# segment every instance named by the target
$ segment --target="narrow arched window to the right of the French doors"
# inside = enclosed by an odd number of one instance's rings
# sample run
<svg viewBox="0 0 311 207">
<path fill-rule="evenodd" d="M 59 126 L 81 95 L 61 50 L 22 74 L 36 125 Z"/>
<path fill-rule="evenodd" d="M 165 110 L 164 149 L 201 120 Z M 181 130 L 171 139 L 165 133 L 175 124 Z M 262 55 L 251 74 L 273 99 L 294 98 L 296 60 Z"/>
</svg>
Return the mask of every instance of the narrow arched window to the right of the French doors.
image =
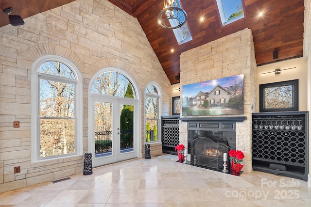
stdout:
<svg viewBox="0 0 311 207">
<path fill-rule="evenodd" d="M 146 143 L 159 142 L 160 93 L 156 83 L 145 89 L 145 129 Z"/>
</svg>

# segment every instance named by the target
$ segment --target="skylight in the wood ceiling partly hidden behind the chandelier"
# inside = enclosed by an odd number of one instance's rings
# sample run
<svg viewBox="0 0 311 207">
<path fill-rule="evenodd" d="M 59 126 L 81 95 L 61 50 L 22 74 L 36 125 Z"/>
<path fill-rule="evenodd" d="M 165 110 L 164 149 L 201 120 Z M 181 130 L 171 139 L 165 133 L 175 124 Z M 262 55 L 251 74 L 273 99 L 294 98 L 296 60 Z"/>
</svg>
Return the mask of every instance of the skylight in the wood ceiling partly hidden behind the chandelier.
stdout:
<svg viewBox="0 0 311 207">
<path fill-rule="evenodd" d="M 174 6 L 182 8 L 179 0 L 176 0 L 176 4 L 177 5 L 174 5 Z M 171 21 L 171 19 L 170 19 L 170 24 L 172 26 L 175 26 L 176 24 L 178 24 L 178 22 Z M 178 45 L 184 44 L 184 43 L 192 40 L 192 36 L 190 34 L 190 30 L 189 30 L 187 22 L 183 26 L 181 26 L 177 29 L 173 29 L 173 32 L 174 32 L 175 38 L 178 42 Z"/>
</svg>

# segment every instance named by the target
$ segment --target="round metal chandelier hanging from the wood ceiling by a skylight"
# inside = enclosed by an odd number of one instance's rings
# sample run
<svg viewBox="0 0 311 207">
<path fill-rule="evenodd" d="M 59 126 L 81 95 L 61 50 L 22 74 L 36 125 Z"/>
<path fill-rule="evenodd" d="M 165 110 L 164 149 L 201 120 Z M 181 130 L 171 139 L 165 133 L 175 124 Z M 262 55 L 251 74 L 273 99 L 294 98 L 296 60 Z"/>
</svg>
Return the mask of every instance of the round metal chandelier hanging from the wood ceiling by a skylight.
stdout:
<svg viewBox="0 0 311 207">
<path fill-rule="evenodd" d="M 163 10 L 157 16 L 157 21 L 161 27 L 165 29 L 176 29 L 185 24 L 187 14 L 181 8 L 179 1 L 164 0 Z"/>
</svg>

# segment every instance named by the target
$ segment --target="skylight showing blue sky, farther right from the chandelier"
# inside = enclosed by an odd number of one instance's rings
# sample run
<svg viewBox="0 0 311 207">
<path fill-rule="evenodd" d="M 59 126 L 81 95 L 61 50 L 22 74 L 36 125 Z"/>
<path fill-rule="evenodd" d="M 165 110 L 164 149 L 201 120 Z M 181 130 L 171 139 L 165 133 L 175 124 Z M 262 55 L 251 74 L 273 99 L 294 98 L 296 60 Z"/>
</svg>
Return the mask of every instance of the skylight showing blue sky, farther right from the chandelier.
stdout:
<svg viewBox="0 0 311 207">
<path fill-rule="evenodd" d="M 244 17 L 242 0 L 216 0 L 223 26 Z"/>
</svg>

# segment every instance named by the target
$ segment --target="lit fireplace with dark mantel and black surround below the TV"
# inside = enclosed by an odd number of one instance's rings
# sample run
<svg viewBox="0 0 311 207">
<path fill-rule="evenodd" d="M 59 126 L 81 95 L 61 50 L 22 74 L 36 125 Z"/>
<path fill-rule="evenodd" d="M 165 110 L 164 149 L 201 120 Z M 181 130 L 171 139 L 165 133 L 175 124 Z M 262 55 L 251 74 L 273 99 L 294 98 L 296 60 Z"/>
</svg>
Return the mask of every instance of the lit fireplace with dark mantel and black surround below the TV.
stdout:
<svg viewBox="0 0 311 207">
<path fill-rule="evenodd" d="M 236 123 L 246 117 L 184 117 L 188 128 L 189 163 L 215 171 L 222 171 L 224 153 L 236 149 Z"/>
</svg>

